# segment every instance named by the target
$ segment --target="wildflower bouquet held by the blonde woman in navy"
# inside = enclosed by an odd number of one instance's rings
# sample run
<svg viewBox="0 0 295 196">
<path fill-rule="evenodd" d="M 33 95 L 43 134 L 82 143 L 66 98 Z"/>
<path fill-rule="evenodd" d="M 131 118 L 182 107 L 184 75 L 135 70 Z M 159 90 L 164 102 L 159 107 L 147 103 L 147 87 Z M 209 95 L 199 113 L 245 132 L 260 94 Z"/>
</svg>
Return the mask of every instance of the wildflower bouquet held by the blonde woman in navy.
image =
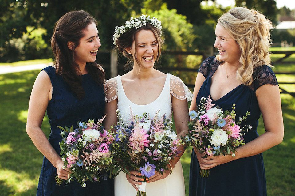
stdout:
<svg viewBox="0 0 295 196">
<path fill-rule="evenodd" d="M 223 112 L 218 107 L 213 107 L 210 96 L 202 97 L 198 111 L 189 113 L 189 133 L 182 137 L 188 146 L 194 146 L 203 153 L 202 158 L 208 156 L 231 155 L 235 156 L 236 148 L 244 145 L 243 134 L 251 126 L 240 127 L 239 124 L 247 118 L 250 112 L 235 122 L 235 104 L 232 111 Z M 208 177 L 209 170 L 201 169 L 202 177 Z"/>
</svg>

